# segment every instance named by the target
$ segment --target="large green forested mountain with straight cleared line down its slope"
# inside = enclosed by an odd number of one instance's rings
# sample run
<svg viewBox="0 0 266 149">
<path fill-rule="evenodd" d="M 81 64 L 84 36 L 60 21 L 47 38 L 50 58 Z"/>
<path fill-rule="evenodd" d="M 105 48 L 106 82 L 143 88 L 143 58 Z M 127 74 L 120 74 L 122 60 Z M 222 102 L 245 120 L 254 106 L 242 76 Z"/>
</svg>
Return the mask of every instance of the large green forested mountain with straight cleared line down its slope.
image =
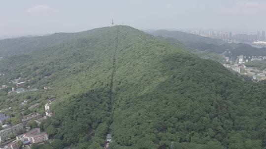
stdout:
<svg viewBox="0 0 266 149">
<path fill-rule="evenodd" d="M 1 83 L 57 98 L 42 125 L 57 143 L 33 149 L 102 149 L 107 133 L 111 149 L 266 147 L 266 84 L 130 26 L 82 34 L 0 60 Z"/>
</svg>

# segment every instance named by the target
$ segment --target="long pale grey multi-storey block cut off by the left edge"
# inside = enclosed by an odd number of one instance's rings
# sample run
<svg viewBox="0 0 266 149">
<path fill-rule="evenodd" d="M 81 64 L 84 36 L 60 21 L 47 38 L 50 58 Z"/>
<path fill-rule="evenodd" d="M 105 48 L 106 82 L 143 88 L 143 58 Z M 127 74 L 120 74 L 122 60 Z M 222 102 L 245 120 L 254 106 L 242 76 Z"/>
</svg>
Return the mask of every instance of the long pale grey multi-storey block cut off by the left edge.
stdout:
<svg viewBox="0 0 266 149">
<path fill-rule="evenodd" d="M 14 136 L 16 136 L 17 134 L 19 134 L 20 132 L 22 132 L 24 129 L 23 124 L 16 124 L 10 127 L 7 127 L 5 129 L 0 130 L 0 141 L 4 141 L 5 139 L 7 139 L 11 134 L 13 134 Z"/>
</svg>

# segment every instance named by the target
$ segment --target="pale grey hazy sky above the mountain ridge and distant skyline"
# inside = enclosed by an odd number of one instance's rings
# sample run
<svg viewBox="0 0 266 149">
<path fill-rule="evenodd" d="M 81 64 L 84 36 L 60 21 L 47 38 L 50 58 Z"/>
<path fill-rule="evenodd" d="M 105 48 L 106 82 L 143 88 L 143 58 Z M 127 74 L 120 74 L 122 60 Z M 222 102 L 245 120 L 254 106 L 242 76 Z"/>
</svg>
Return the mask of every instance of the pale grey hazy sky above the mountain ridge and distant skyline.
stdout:
<svg viewBox="0 0 266 149">
<path fill-rule="evenodd" d="M 0 0 L 0 36 L 138 29 L 266 30 L 266 0 Z"/>
</svg>

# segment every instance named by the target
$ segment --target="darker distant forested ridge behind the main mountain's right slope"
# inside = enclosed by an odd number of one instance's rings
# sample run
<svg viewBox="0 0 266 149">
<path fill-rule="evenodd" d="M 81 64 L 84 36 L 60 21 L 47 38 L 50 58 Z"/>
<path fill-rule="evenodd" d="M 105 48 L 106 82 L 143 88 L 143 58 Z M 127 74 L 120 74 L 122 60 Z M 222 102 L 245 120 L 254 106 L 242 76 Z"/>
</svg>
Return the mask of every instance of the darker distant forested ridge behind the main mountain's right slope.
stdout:
<svg viewBox="0 0 266 149">
<path fill-rule="evenodd" d="M 248 44 L 228 44 L 219 39 L 202 37 L 180 31 L 158 30 L 151 32 L 151 34 L 154 36 L 174 38 L 188 47 L 201 51 L 209 51 L 220 54 L 226 50 L 230 50 L 231 54 L 229 56 L 238 56 L 241 54 L 250 56 L 266 56 L 266 48 L 256 48 Z"/>
</svg>

